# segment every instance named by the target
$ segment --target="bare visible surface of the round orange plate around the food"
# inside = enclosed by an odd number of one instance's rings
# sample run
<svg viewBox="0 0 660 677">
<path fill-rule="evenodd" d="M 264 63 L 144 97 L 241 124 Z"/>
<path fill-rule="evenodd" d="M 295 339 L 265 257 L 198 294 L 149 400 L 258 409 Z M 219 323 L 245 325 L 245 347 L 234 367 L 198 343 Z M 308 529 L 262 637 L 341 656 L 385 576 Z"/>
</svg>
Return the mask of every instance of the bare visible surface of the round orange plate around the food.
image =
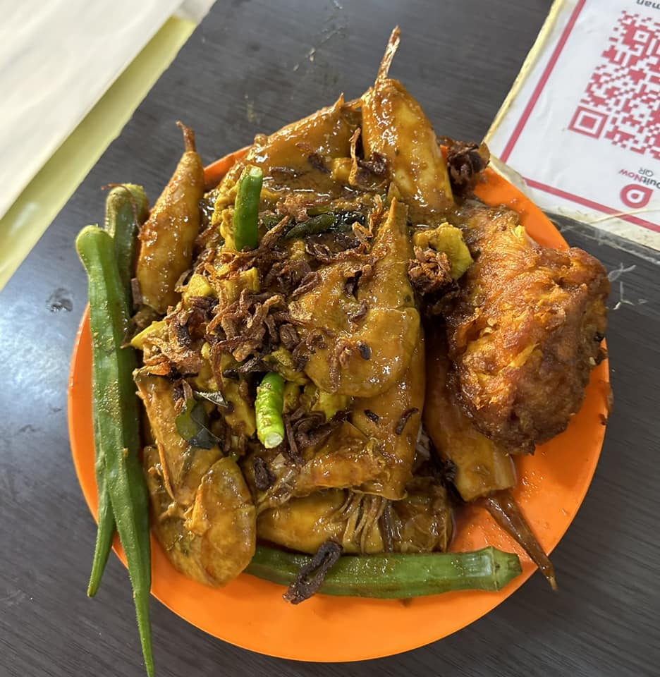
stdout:
<svg viewBox="0 0 660 677">
<path fill-rule="evenodd" d="M 207 182 L 219 181 L 242 152 L 207 168 Z M 487 170 L 479 197 L 489 205 L 506 204 L 520 214 L 539 243 L 566 248 L 566 242 L 541 212 L 510 183 Z M 75 342 L 68 391 L 68 420 L 73 461 L 92 514 L 98 508 L 94 478 L 91 393 L 92 350 L 87 312 Z M 568 430 L 518 459 L 515 498 L 539 541 L 551 551 L 575 517 L 592 480 L 605 427 L 609 371 L 606 362 L 592 373 L 587 399 Z M 501 592 L 450 592 L 397 600 L 329 597 L 319 594 L 299 606 L 282 599 L 283 587 L 242 574 L 224 588 L 205 587 L 178 573 L 152 539 L 152 592 L 176 614 L 221 640 L 245 649 L 304 661 L 356 661 L 421 647 L 464 628 L 503 602 L 530 578 L 536 566 L 482 509 L 461 519 L 455 551 L 495 547 L 517 551 L 523 574 Z M 90 558 L 92 555 L 90 544 Z M 121 546 L 116 554 L 126 563 Z M 561 585 L 561 571 L 558 572 Z"/>
</svg>

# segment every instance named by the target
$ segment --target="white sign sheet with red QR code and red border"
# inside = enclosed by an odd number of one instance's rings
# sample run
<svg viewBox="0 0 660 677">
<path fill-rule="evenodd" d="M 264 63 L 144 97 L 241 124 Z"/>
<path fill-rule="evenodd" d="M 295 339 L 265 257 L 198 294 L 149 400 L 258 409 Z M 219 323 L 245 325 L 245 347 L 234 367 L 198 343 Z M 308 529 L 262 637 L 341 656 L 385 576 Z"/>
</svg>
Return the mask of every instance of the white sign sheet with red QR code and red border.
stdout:
<svg viewBox="0 0 660 677">
<path fill-rule="evenodd" d="M 660 2 L 567 0 L 487 135 L 543 209 L 660 249 Z"/>
</svg>

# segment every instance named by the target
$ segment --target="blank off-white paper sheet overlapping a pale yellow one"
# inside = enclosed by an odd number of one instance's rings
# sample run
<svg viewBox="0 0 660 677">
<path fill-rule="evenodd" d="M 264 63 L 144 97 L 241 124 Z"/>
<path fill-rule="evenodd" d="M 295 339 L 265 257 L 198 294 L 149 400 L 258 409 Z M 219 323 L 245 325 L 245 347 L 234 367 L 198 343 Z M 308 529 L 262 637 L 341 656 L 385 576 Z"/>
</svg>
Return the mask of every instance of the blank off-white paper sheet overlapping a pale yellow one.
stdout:
<svg viewBox="0 0 660 677">
<path fill-rule="evenodd" d="M 0 2 L 0 217 L 180 4 Z"/>
</svg>

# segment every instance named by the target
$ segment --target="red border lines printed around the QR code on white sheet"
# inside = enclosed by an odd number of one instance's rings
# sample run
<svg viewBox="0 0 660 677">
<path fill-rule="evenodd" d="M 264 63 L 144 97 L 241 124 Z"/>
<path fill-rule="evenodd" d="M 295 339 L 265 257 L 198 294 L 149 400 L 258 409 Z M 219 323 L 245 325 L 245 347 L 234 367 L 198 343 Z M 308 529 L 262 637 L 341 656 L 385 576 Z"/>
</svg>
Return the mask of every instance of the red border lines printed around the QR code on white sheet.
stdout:
<svg viewBox="0 0 660 677">
<path fill-rule="evenodd" d="M 534 87 L 532 97 L 530 97 L 530 101 L 527 103 L 527 106 L 525 106 L 523 115 L 520 116 L 520 120 L 518 121 L 518 124 L 514 128 L 513 133 L 511 134 L 511 138 L 509 138 L 506 146 L 504 147 L 504 150 L 501 155 L 501 160 L 503 162 L 506 162 L 509 159 L 509 157 L 511 157 L 513 147 L 518 142 L 520 134 L 523 132 L 523 128 L 527 124 L 527 121 L 530 119 L 532 110 L 534 109 L 534 106 L 536 106 L 539 97 L 541 96 L 541 92 L 544 90 L 544 87 L 548 83 L 548 80 L 555 67 L 555 64 L 559 59 L 559 55 L 561 54 L 563 48 L 566 46 L 568 37 L 570 36 L 570 33 L 573 31 L 573 28 L 575 28 L 575 23 L 578 21 L 578 17 L 580 16 L 582 9 L 585 7 L 586 1 L 587 0 L 580 0 L 578 4 L 575 6 L 573 13 L 570 15 L 570 19 L 566 24 L 566 28 L 564 28 L 563 32 L 561 33 L 559 42 L 557 42 L 556 47 L 552 52 L 552 55 L 550 56 L 550 61 L 548 61 L 546 67 L 544 68 L 544 71 L 541 75 L 541 78 L 539 79 L 539 82 L 537 83 L 537 86 Z M 589 207 L 589 209 L 595 209 L 597 212 L 603 212 L 603 214 L 617 214 L 619 219 L 623 219 L 631 224 L 635 224 L 635 226 L 642 226 L 643 228 L 648 228 L 651 231 L 660 233 L 660 226 L 658 224 L 654 224 L 651 221 L 645 221 L 644 219 L 638 219 L 637 216 L 631 216 L 628 214 L 620 215 L 621 212 L 620 209 L 606 207 L 606 205 L 601 205 L 599 202 L 587 200 L 586 197 L 581 197 L 580 195 L 575 195 L 574 193 L 568 193 L 566 190 L 560 190 L 559 188 L 554 188 L 551 185 L 546 185 L 545 183 L 540 183 L 539 181 L 533 181 L 530 178 L 525 178 L 525 181 L 527 185 L 529 185 L 531 188 L 543 190 L 545 193 L 550 193 L 550 195 L 556 195 L 556 197 L 563 197 L 564 200 L 573 200 L 573 202 L 576 202 L 578 205 L 582 205 L 583 207 Z"/>
</svg>

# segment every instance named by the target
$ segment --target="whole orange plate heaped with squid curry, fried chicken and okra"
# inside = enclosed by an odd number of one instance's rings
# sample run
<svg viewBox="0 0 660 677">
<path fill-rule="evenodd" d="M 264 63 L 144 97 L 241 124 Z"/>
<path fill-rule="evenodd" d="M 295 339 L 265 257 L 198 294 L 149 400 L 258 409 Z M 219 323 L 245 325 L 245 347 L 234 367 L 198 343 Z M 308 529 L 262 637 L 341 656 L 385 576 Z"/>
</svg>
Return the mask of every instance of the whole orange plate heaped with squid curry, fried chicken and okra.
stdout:
<svg viewBox="0 0 660 677">
<path fill-rule="evenodd" d="M 179 123 L 153 207 L 116 185 L 76 240 L 88 592 L 114 547 L 149 674 L 150 592 L 240 647 L 352 661 L 561 581 L 609 410 L 606 270 L 485 145 L 436 136 L 398 42 L 359 99 L 205 169 Z"/>
</svg>

